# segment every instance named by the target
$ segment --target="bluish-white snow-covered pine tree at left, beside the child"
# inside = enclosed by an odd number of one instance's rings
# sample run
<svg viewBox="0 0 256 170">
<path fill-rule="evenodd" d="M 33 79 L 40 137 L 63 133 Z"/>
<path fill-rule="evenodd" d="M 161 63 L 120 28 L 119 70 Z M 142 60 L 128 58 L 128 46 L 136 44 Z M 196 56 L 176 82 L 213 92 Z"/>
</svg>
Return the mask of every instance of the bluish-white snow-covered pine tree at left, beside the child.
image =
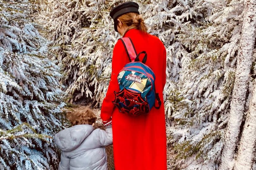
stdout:
<svg viewBox="0 0 256 170">
<path fill-rule="evenodd" d="M 36 2 L 34 2 L 36 3 Z M 47 57 L 35 4 L 0 2 L 0 169 L 56 169 L 62 129 L 59 67 Z"/>
</svg>

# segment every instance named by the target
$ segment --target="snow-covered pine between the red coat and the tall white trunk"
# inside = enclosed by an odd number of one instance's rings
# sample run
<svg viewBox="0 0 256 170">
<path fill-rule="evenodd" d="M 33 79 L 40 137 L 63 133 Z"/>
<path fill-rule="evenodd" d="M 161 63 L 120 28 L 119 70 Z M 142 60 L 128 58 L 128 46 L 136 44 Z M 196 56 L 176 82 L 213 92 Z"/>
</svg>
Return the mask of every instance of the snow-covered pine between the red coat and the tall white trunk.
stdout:
<svg viewBox="0 0 256 170">
<path fill-rule="evenodd" d="M 171 126 L 178 160 L 187 169 L 218 169 L 241 43 L 243 1 L 196 1 L 202 20 L 183 25 L 177 41 L 178 88 L 170 96 Z M 254 47 L 255 48 L 255 47 Z M 249 94 L 250 95 L 250 94 Z M 168 98 L 167 98 L 168 99 Z M 247 101 L 248 103 L 248 101 Z M 168 107 L 168 106 L 167 106 Z"/>
</svg>

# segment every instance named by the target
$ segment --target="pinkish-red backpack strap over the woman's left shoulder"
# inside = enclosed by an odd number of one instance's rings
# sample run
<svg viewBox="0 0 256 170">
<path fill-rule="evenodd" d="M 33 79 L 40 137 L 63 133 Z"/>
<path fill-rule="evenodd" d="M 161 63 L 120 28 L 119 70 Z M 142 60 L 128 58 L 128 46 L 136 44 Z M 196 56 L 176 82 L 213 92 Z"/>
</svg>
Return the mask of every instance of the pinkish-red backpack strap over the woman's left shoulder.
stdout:
<svg viewBox="0 0 256 170">
<path fill-rule="evenodd" d="M 137 52 L 134 48 L 134 45 L 131 41 L 131 38 L 130 37 L 123 37 L 123 38 L 119 38 L 122 43 L 124 44 L 125 46 L 125 51 L 130 59 L 130 62 L 134 62 L 136 56 L 137 56 Z"/>
</svg>

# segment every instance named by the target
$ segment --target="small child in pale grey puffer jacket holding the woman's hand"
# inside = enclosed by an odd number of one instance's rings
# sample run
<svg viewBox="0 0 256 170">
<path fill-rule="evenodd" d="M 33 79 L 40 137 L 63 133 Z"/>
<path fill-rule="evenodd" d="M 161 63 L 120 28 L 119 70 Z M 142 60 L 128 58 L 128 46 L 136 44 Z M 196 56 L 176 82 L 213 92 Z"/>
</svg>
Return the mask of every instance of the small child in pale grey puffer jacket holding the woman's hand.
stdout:
<svg viewBox="0 0 256 170">
<path fill-rule="evenodd" d="M 112 125 L 106 131 L 94 130 L 97 117 L 89 108 L 70 115 L 72 127 L 54 136 L 55 143 L 62 150 L 58 170 L 106 170 L 107 155 L 104 146 L 113 143 Z"/>
</svg>

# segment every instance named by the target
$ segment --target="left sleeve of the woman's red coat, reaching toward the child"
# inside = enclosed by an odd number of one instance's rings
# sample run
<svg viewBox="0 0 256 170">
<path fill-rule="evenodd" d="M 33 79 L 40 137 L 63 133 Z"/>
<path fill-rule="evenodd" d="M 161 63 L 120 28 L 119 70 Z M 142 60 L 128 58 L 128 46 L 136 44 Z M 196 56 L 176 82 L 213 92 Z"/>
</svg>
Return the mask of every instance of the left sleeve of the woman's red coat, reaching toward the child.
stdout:
<svg viewBox="0 0 256 170">
<path fill-rule="evenodd" d="M 112 57 L 112 73 L 108 85 L 106 97 L 103 99 L 101 107 L 101 119 L 104 121 L 109 120 L 112 116 L 115 105 L 112 103 L 115 99 L 114 91 L 119 91 L 117 76 L 119 71 L 125 66 L 125 59 L 121 56 L 126 56 L 125 47 L 121 40 L 118 40 L 113 49 Z"/>
</svg>

